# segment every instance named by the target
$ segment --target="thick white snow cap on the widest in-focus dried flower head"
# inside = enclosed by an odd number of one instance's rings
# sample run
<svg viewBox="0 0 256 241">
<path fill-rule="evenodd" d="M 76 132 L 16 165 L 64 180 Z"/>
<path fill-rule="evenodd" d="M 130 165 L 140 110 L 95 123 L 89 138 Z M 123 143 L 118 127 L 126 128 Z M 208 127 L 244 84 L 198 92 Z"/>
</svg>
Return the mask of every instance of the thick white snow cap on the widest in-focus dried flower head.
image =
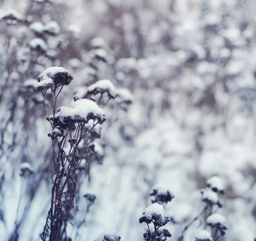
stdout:
<svg viewBox="0 0 256 241">
<path fill-rule="evenodd" d="M 103 110 L 92 100 L 80 99 L 73 102 L 72 107 L 62 106 L 55 117 L 70 117 L 86 119 L 89 113 L 104 117 Z"/>
</svg>

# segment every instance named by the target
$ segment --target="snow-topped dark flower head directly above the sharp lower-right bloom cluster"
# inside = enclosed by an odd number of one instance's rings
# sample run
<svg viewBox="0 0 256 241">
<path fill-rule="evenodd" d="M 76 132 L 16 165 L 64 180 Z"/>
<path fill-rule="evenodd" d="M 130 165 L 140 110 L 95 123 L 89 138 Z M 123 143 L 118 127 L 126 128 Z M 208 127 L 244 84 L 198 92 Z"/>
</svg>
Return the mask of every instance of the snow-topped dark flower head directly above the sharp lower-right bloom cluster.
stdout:
<svg viewBox="0 0 256 241">
<path fill-rule="evenodd" d="M 152 204 L 167 204 L 168 202 L 172 201 L 172 198 L 174 198 L 174 195 L 172 195 L 167 187 L 162 183 L 153 186 L 149 195 L 154 196 L 154 200 L 151 201 Z"/>
</svg>

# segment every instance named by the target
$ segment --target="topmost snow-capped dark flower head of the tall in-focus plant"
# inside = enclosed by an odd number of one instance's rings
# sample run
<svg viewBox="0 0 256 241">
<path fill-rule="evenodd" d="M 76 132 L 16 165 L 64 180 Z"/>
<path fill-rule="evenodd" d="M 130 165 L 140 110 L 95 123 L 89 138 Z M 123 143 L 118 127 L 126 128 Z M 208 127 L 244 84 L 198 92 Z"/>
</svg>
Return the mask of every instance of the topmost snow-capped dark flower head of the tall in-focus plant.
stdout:
<svg viewBox="0 0 256 241">
<path fill-rule="evenodd" d="M 51 78 L 55 85 L 69 85 L 71 80 L 73 80 L 72 75 L 67 69 L 58 66 L 49 67 L 44 70 L 44 72 L 38 76 L 38 82 L 47 78 Z"/>
</svg>

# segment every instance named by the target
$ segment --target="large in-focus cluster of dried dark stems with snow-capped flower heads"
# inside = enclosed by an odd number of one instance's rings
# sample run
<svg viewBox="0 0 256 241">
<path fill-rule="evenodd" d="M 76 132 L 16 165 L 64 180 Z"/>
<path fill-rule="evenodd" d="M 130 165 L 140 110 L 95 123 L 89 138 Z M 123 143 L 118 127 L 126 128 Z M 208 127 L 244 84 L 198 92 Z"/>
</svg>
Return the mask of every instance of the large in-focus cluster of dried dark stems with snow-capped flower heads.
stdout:
<svg viewBox="0 0 256 241">
<path fill-rule="evenodd" d="M 52 127 L 52 133 L 49 133 L 48 136 L 52 140 L 54 164 L 51 207 L 47 215 L 44 232 L 41 234 L 43 241 L 46 241 L 48 235 L 49 241 L 63 240 L 67 222 L 72 218 L 68 215 L 69 209 L 70 207 L 75 208 L 77 175 L 79 169 L 83 170 L 81 163 L 85 160 L 83 164 L 88 172 L 90 164 L 101 162 L 100 153 L 97 153 L 93 143 L 95 139 L 101 137 L 96 126 L 102 125 L 106 120 L 99 105 L 105 93 L 108 100 L 117 96 L 114 91 L 115 88 L 109 80 L 99 80 L 88 88 L 85 96 L 90 97 L 90 100 L 74 97 L 73 106 L 57 108 L 57 99 L 61 90 L 72 80 L 73 77 L 70 72 L 57 66 L 47 68 L 38 77 L 37 90 L 43 95 L 47 109 L 46 119 Z M 47 106 L 47 91 L 50 92 L 50 108 Z M 104 106 L 107 103 L 108 101 Z M 96 196 L 88 193 L 84 195 L 84 198 L 87 199 L 88 203 L 86 212 L 89 212 Z M 84 221 L 79 224 L 79 227 Z M 112 239 L 107 238 L 105 240 Z"/>
</svg>

